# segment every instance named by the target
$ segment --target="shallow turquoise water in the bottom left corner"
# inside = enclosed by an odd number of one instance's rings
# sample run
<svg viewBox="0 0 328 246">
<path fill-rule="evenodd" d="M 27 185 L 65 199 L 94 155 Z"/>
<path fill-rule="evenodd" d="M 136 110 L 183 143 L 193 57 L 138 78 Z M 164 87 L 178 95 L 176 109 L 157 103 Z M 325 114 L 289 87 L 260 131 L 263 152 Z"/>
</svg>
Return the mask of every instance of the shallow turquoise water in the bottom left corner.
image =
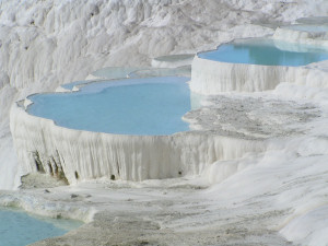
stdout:
<svg viewBox="0 0 328 246">
<path fill-rule="evenodd" d="M 61 221 L 61 222 L 60 222 Z M 62 223 L 62 227 L 59 227 Z M 57 225 L 57 226 L 56 226 Z M 24 246 L 48 237 L 60 236 L 81 223 L 31 216 L 19 210 L 0 208 L 0 245 Z"/>
</svg>

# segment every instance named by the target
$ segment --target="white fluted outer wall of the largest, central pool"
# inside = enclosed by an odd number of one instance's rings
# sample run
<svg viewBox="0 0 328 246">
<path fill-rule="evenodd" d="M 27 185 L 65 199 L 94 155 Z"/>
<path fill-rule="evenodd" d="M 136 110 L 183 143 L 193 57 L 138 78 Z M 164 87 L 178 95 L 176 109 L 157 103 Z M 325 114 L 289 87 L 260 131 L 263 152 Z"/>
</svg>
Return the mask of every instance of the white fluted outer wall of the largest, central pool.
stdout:
<svg viewBox="0 0 328 246">
<path fill-rule="evenodd" d="M 263 140 L 201 131 L 172 136 L 125 136 L 68 129 L 27 114 L 17 104 L 10 129 L 24 174 L 44 172 L 69 184 L 107 177 L 140 181 L 198 175 L 219 160 L 266 150 Z"/>
</svg>

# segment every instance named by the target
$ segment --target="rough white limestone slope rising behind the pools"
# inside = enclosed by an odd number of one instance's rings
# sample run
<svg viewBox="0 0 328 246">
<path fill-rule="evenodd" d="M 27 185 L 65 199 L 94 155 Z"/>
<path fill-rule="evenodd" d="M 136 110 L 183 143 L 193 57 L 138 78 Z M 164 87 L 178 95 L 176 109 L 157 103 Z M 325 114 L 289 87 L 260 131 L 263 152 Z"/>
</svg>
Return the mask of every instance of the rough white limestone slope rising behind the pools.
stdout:
<svg viewBox="0 0 328 246">
<path fill-rule="evenodd" d="M 323 0 L 1 0 L 0 188 L 20 183 L 9 130 L 15 101 L 84 80 L 99 68 L 149 67 L 153 57 L 272 34 L 270 27 L 251 24 L 262 20 L 289 23 L 324 13 Z"/>
</svg>

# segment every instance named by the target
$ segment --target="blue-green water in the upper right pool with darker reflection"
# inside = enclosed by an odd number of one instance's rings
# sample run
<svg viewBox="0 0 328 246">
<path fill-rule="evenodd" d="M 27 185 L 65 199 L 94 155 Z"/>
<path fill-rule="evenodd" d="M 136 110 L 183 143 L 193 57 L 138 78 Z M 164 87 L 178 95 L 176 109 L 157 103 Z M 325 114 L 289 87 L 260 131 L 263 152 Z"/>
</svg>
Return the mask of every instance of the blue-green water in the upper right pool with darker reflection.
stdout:
<svg viewBox="0 0 328 246">
<path fill-rule="evenodd" d="M 221 45 L 216 50 L 201 52 L 198 56 L 229 63 L 297 67 L 327 60 L 328 51 L 309 45 L 245 39 Z"/>
</svg>

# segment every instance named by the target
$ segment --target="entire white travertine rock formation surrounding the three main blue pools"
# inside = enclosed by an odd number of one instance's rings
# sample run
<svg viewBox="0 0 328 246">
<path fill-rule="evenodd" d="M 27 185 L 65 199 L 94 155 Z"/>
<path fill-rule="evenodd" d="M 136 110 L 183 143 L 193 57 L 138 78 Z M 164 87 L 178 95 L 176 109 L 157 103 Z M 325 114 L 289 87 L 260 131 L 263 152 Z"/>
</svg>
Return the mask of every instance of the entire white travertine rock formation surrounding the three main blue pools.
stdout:
<svg viewBox="0 0 328 246">
<path fill-rule="evenodd" d="M 34 245 L 327 245 L 328 61 L 197 56 L 254 37 L 327 49 L 327 14 L 326 0 L 1 0 L 0 206 L 85 222 Z M 174 74 L 190 75 L 189 131 L 26 112 L 31 94 Z"/>
</svg>

